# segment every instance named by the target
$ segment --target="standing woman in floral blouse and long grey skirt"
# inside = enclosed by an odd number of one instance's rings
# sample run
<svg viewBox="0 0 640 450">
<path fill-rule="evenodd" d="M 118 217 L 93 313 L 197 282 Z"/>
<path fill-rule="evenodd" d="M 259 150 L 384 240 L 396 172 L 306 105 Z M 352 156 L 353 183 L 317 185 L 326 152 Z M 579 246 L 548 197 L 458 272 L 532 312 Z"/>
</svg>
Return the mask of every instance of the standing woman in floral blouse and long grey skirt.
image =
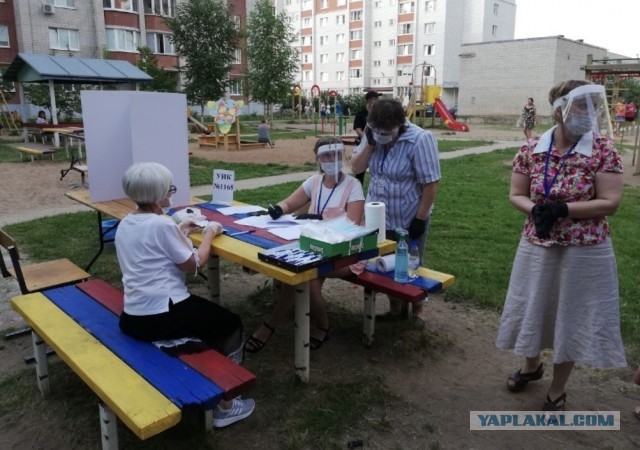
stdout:
<svg viewBox="0 0 640 450">
<path fill-rule="evenodd" d="M 626 366 L 607 220 L 620 205 L 622 162 L 604 135 L 611 125 L 603 86 L 565 81 L 549 101 L 557 125 L 513 161 L 509 198 L 527 219 L 496 346 L 525 358 L 508 377 L 513 392 L 542 378 L 540 351 L 553 349 L 543 410 L 557 411 L 574 364 Z"/>
</svg>

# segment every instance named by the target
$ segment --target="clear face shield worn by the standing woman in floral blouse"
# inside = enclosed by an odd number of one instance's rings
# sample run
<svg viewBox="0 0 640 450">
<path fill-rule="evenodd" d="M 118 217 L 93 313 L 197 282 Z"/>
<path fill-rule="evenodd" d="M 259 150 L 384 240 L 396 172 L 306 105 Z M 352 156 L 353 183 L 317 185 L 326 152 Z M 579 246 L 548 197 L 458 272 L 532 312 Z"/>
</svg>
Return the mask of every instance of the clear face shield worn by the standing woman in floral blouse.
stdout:
<svg viewBox="0 0 640 450">
<path fill-rule="evenodd" d="M 553 110 L 562 110 L 564 128 L 573 136 L 589 131 L 612 136 L 609 107 L 604 86 L 587 84 L 577 87 L 553 102 Z"/>
</svg>

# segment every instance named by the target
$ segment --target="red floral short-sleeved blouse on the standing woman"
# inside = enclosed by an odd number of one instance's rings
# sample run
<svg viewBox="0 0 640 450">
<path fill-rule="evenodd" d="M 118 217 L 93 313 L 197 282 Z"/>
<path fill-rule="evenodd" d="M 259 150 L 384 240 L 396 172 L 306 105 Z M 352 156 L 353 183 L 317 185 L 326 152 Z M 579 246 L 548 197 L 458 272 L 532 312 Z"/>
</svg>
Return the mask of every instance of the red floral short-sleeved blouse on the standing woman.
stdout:
<svg viewBox="0 0 640 450">
<path fill-rule="evenodd" d="M 552 133 L 554 128 L 549 130 Z M 536 146 L 545 136 L 535 137 L 525 143 L 513 160 L 513 171 L 528 175 L 530 178 L 531 200 L 537 204 L 544 203 L 544 178 L 547 150 L 536 152 Z M 551 145 L 548 182 L 557 174 L 551 186 L 548 201 L 563 201 L 566 203 L 587 201 L 595 198 L 595 176 L 598 172 L 622 173 L 620 153 L 614 143 L 606 136 L 593 134 L 591 155 L 580 151 L 573 151 L 562 164 L 563 157 L 558 153 L 555 145 Z M 588 143 L 587 143 L 588 145 Z M 536 235 L 535 225 L 531 215 L 527 216 L 523 228 L 524 238 L 532 244 L 551 247 L 552 245 L 595 245 L 606 241 L 610 236 L 609 223 L 606 216 L 590 219 L 573 219 L 565 217 L 558 219 L 551 230 L 548 239 L 540 239 Z"/>
</svg>

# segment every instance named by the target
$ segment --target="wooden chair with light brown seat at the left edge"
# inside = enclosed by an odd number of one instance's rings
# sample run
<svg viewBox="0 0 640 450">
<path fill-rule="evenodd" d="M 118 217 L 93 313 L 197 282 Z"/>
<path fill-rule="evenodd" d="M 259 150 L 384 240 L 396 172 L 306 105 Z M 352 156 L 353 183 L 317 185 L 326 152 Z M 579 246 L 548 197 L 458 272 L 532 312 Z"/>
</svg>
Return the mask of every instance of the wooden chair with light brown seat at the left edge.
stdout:
<svg viewBox="0 0 640 450">
<path fill-rule="evenodd" d="M 2 276 L 15 278 L 20 285 L 22 294 L 75 284 L 91 276 L 66 258 L 22 266 L 15 240 L 4 230 L 0 230 L 0 247 L 7 250 L 11 260 L 11 267 L 7 267 L 2 251 L 0 251 Z"/>
</svg>

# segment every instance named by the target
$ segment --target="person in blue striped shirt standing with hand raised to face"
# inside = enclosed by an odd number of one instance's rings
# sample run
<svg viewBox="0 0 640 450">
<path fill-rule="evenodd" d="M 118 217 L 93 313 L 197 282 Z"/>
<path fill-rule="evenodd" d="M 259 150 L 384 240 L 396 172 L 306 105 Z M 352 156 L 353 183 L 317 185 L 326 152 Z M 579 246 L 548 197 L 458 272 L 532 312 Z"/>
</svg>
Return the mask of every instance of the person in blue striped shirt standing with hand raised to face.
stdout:
<svg viewBox="0 0 640 450">
<path fill-rule="evenodd" d="M 367 202 L 385 204 L 387 239 L 397 240 L 398 228 L 408 230 L 409 240 L 418 244 L 422 265 L 440 182 L 436 138 L 408 121 L 398 100 L 378 100 L 369 111 L 364 138 L 354 151 L 351 166 L 356 173 L 369 168 Z M 383 318 L 400 318 L 401 301 L 390 298 L 390 303 Z M 413 321 L 416 327 L 424 327 L 424 304 L 414 304 Z"/>
</svg>

